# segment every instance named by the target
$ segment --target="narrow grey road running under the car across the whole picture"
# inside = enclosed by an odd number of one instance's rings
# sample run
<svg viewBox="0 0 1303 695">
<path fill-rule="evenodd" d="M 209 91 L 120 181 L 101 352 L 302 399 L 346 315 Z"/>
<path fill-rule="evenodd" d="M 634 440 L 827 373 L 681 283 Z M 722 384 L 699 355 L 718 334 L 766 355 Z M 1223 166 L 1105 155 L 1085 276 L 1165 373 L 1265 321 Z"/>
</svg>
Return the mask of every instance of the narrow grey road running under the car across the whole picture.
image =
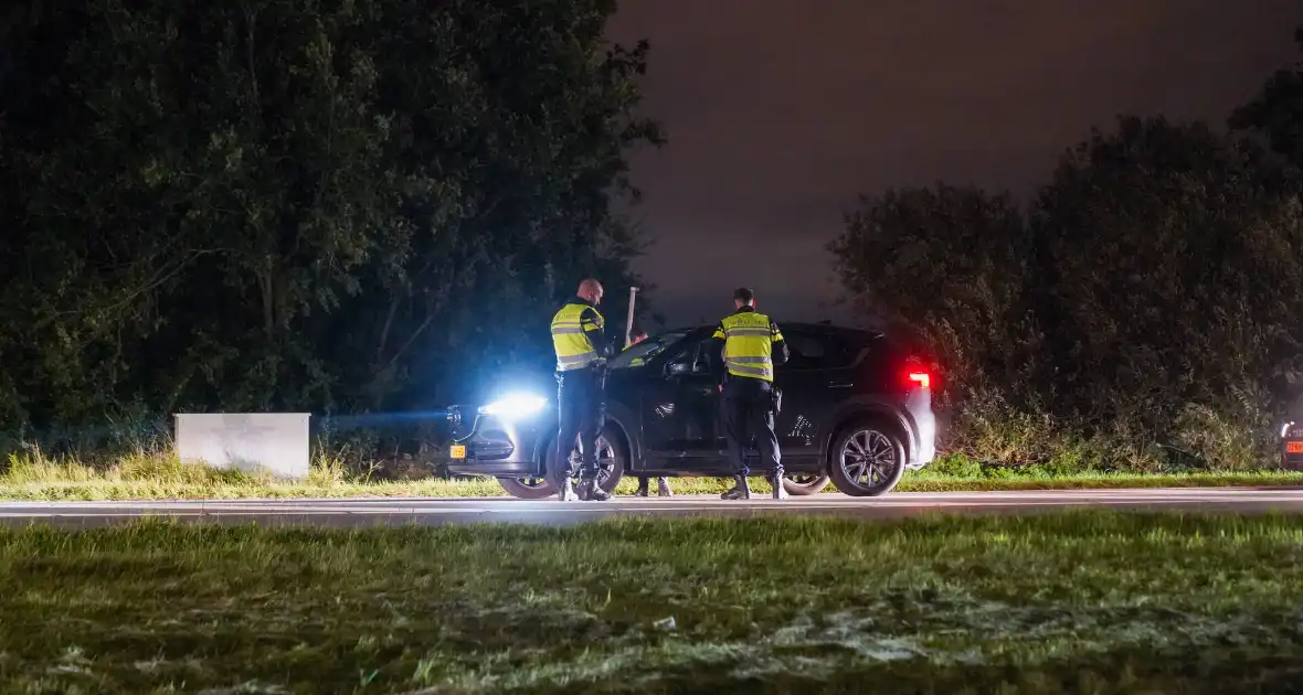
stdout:
<svg viewBox="0 0 1303 695">
<path fill-rule="evenodd" d="M 202 500 L 122 502 L 0 502 L 9 526 L 103 526 L 141 517 L 219 523 L 318 526 L 513 522 L 573 525 L 624 517 L 757 517 L 778 514 L 900 518 L 926 513 L 1029 514 L 1057 509 L 1303 513 L 1303 489 L 1153 488 L 1028 492 L 899 492 L 878 498 L 843 495 L 722 501 L 714 496 L 616 497 L 607 502 L 476 498 Z"/>
</svg>

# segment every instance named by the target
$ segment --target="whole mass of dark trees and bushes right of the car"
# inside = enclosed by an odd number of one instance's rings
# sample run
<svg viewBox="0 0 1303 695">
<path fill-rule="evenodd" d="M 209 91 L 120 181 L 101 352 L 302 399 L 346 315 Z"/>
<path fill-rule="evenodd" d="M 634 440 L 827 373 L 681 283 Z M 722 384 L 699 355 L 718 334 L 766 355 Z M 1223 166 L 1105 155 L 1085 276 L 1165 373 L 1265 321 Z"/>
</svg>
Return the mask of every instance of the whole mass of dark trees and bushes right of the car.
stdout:
<svg viewBox="0 0 1303 695">
<path fill-rule="evenodd" d="M 1303 65 L 1230 122 L 1122 117 L 1025 206 L 937 185 L 848 215 L 833 245 L 843 282 L 936 351 L 951 450 L 1070 467 L 1278 461 L 1303 388 Z"/>
</svg>

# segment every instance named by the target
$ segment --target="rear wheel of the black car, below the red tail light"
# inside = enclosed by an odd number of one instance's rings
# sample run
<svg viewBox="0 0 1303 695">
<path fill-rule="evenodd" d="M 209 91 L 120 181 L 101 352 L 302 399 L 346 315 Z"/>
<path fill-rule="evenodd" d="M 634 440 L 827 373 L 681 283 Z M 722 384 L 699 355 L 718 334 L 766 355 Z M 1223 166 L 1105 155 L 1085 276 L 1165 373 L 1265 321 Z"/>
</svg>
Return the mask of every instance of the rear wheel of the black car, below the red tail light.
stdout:
<svg viewBox="0 0 1303 695">
<path fill-rule="evenodd" d="M 829 449 L 827 472 L 843 495 L 880 497 L 904 475 L 904 456 L 895 428 L 873 419 L 856 420 L 842 428 Z"/>
</svg>

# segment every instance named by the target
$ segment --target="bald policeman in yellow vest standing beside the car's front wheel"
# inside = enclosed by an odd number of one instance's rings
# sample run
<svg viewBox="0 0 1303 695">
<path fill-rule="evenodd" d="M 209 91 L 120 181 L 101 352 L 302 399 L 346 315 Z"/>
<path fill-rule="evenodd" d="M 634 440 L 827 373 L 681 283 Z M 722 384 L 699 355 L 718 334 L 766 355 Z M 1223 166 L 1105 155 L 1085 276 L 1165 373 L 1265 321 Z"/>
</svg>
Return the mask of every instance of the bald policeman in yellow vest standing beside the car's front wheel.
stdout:
<svg viewBox="0 0 1303 695">
<path fill-rule="evenodd" d="M 598 487 L 597 439 L 606 420 L 606 358 L 614 345 L 606 340 L 602 284 L 580 282 L 576 297 L 552 316 L 552 349 L 556 351 L 556 478 L 559 497 L 571 501 L 607 500 Z M 580 487 L 575 489 L 575 463 L 571 452 L 580 445 Z"/>
</svg>

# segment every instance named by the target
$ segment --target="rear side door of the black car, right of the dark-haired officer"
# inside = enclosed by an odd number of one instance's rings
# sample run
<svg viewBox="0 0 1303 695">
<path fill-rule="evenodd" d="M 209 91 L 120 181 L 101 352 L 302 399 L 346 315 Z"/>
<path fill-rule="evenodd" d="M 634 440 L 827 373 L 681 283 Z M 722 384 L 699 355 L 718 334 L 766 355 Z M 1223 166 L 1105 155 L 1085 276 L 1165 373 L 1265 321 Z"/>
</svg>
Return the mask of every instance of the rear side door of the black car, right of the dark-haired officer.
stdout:
<svg viewBox="0 0 1303 695">
<path fill-rule="evenodd" d="M 782 328 L 782 327 L 780 327 Z M 821 429 L 838 400 L 838 390 L 853 385 L 850 375 L 853 350 L 834 334 L 809 328 L 782 328 L 790 357 L 774 370 L 774 384 L 782 389 L 782 410 L 774 428 L 784 453 L 816 456 Z"/>
</svg>

